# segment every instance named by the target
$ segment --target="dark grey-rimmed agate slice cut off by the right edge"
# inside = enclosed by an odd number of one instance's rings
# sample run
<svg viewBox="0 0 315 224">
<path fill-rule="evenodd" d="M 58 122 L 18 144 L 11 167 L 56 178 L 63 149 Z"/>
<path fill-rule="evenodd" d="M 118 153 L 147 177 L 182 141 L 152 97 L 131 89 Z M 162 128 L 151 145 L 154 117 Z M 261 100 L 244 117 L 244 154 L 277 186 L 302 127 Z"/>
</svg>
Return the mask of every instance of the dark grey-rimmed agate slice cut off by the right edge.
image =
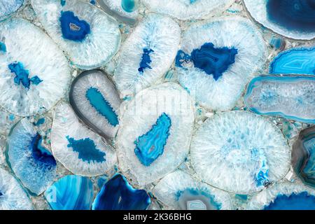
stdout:
<svg viewBox="0 0 315 224">
<path fill-rule="evenodd" d="M 293 144 L 292 166 L 304 183 L 315 186 L 315 126 L 302 130 Z"/>
</svg>

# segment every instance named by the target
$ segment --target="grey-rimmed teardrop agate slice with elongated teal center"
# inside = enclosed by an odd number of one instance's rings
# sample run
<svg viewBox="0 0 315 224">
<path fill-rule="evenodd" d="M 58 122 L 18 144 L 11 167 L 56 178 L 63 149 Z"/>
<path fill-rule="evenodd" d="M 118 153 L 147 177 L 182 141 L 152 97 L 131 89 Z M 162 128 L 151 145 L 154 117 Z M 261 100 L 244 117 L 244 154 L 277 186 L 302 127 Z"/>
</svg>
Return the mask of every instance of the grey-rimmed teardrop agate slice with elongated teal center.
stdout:
<svg viewBox="0 0 315 224">
<path fill-rule="evenodd" d="M 116 87 L 102 70 L 80 73 L 72 82 L 69 98 L 84 123 L 103 137 L 115 137 L 120 99 Z"/>
</svg>

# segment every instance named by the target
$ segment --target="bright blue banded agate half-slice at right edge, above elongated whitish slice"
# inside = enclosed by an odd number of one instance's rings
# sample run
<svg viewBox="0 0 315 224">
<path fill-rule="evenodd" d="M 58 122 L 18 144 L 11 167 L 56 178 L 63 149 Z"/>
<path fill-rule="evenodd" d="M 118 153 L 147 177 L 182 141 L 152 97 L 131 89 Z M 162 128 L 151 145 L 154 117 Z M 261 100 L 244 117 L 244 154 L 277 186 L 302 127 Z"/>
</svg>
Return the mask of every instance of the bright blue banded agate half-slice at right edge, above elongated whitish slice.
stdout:
<svg viewBox="0 0 315 224">
<path fill-rule="evenodd" d="M 315 75 L 315 48 L 292 48 L 270 63 L 269 73 Z"/>
</svg>

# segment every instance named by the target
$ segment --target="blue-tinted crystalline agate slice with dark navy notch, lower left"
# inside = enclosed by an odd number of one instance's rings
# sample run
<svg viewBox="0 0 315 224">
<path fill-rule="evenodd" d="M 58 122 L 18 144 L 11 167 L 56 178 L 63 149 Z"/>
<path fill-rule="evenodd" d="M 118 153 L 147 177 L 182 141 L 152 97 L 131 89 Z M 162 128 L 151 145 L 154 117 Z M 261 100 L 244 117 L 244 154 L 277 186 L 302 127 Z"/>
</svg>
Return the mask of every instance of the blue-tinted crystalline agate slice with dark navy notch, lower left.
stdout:
<svg viewBox="0 0 315 224">
<path fill-rule="evenodd" d="M 40 195 L 56 176 L 56 161 L 42 144 L 41 137 L 27 118 L 20 120 L 7 139 L 8 164 L 31 193 Z"/>
</svg>

